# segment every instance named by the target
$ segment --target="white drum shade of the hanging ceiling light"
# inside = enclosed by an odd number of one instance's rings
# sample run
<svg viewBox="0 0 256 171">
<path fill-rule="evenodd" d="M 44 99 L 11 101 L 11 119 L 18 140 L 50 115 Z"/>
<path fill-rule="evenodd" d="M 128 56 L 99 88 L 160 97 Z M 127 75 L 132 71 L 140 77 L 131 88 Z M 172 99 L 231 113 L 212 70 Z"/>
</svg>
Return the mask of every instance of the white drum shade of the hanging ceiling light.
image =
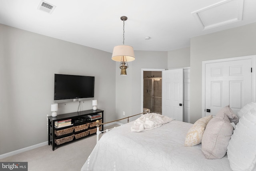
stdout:
<svg viewBox="0 0 256 171">
<path fill-rule="evenodd" d="M 127 62 L 135 60 L 133 47 L 128 45 L 115 46 L 112 53 L 112 60 L 120 62 L 123 56 L 126 56 Z"/>
</svg>

